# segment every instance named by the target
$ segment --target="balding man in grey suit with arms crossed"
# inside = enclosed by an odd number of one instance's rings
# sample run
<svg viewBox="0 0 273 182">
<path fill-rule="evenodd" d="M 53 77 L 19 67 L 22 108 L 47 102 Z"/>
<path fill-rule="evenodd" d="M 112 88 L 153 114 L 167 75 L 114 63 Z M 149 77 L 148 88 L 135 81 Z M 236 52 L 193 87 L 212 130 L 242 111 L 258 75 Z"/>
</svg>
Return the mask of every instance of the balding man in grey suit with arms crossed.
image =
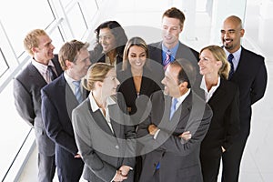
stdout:
<svg viewBox="0 0 273 182">
<path fill-rule="evenodd" d="M 165 95 L 151 96 L 149 117 L 136 132 L 143 144 L 141 182 L 203 181 L 199 150 L 212 111 L 191 90 L 193 73 L 186 60 L 170 63 L 162 80 Z"/>
</svg>

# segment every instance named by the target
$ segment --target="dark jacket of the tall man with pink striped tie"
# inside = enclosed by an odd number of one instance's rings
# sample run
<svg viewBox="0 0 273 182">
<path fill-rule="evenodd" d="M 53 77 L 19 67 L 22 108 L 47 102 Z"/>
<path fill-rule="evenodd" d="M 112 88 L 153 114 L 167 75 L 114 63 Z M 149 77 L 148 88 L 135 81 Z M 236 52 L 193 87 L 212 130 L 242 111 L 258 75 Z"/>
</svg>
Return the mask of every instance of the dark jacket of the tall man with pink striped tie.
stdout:
<svg viewBox="0 0 273 182">
<path fill-rule="evenodd" d="M 197 65 L 197 62 L 199 61 L 199 53 L 196 50 L 188 47 L 187 45 L 182 44 L 180 41 L 178 44 L 179 45 L 175 59 L 187 59 L 187 61 L 192 63 L 192 66 L 196 68 L 196 80 L 194 80 L 196 84 L 194 84 L 192 88 L 198 95 L 200 95 L 198 83 L 200 82 L 202 76 L 199 74 L 199 66 Z M 148 45 L 148 49 L 150 58 L 149 64 L 151 65 L 151 67 L 153 67 L 154 76 L 157 76 L 157 81 L 161 83 L 161 80 L 165 75 L 162 66 L 162 41 Z M 163 88 L 162 85 L 161 87 Z"/>
</svg>

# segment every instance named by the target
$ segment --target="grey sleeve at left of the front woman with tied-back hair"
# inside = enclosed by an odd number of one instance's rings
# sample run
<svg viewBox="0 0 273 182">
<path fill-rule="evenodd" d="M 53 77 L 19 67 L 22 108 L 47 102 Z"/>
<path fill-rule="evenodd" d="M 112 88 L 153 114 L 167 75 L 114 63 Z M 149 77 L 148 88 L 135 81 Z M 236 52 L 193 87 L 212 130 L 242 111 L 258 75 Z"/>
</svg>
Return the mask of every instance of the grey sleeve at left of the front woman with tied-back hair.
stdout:
<svg viewBox="0 0 273 182">
<path fill-rule="evenodd" d="M 90 138 L 87 114 L 79 114 L 77 109 L 72 112 L 72 124 L 76 137 L 76 145 L 79 148 L 80 154 L 85 162 L 97 177 L 103 181 L 111 181 L 116 175 L 116 168 L 106 163 L 103 159 L 96 155 L 96 150 L 92 147 L 92 139 Z"/>
</svg>

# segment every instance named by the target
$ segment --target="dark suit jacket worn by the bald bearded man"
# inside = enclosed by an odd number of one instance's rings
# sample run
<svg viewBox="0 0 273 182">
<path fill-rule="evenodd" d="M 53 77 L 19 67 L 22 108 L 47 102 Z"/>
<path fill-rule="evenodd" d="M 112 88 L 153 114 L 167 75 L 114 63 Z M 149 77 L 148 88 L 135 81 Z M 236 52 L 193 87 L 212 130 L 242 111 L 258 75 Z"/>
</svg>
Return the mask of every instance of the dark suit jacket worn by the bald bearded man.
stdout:
<svg viewBox="0 0 273 182">
<path fill-rule="evenodd" d="M 230 81 L 239 88 L 240 133 L 249 135 L 251 105 L 261 99 L 266 91 L 268 75 L 263 56 L 242 47 L 238 68 Z"/>
</svg>

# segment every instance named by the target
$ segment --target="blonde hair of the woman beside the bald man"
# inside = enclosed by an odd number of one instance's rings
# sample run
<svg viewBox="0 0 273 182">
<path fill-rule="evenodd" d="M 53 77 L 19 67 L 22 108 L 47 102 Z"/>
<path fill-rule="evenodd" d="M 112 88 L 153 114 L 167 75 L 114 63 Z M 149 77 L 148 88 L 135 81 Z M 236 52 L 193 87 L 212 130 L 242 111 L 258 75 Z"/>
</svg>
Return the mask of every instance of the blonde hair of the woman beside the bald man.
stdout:
<svg viewBox="0 0 273 182">
<path fill-rule="evenodd" d="M 224 49 L 218 45 L 208 45 L 201 49 L 200 54 L 206 49 L 211 52 L 211 54 L 216 58 L 217 61 L 222 62 L 222 66 L 218 71 L 218 75 L 222 78 L 228 79 L 230 64 L 227 61 L 227 55 Z"/>
</svg>

